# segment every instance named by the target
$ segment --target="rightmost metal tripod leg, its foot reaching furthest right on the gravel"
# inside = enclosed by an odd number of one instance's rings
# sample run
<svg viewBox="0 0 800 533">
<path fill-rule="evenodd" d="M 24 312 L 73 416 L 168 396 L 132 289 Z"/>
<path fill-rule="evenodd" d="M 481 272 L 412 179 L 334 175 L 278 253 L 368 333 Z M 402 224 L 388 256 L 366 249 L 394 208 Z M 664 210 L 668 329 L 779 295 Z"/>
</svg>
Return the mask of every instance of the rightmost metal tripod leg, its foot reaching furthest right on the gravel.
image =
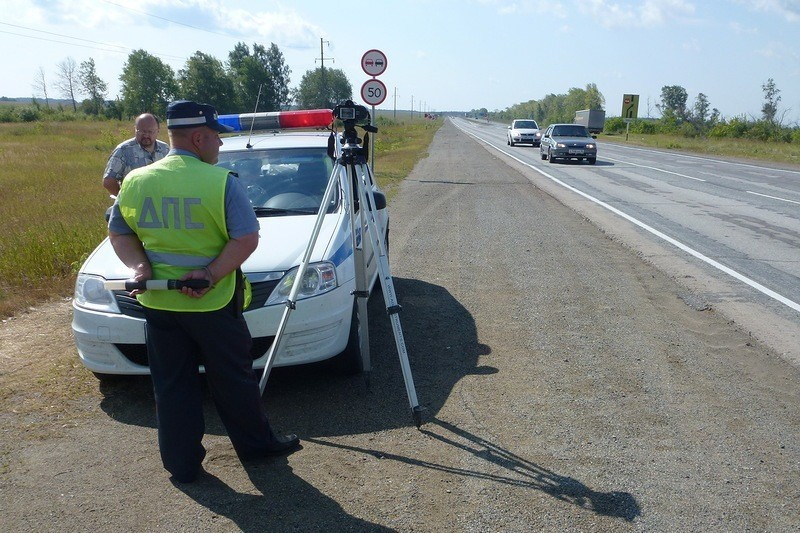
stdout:
<svg viewBox="0 0 800 533">
<path fill-rule="evenodd" d="M 358 179 L 356 184 L 358 187 L 358 198 L 362 211 L 366 213 L 367 229 L 372 241 L 372 249 L 377 258 L 378 272 L 381 279 L 381 289 L 383 291 L 383 299 L 386 304 L 386 311 L 389 313 L 389 320 L 392 324 L 392 331 L 394 332 L 395 345 L 397 347 L 397 354 L 400 358 L 400 368 L 403 372 L 403 379 L 406 385 L 406 395 L 408 396 L 408 403 L 411 406 L 411 415 L 414 419 L 414 424 L 420 427 L 422 424 L 422 407 L 417 400 L 417 391 L 414 387 L 414 377 L 411 374 L 411 365 L 408 361 L 408 351 L 406 349 L 405 339 L 403 338 L 403 328 L 400 325 L 400 305 L 397 303 L 397 296 L 394 292 L 394 283 L 392 281 L 392 274 L 389 271 L 389 258 L 386 253 L 386 246 L 384 243 L 385 228 L 382 227 L 381 222 L 375 216 L 374 206 L 375 196 L 372 194 L 370 184 L 364 178 L 369 169 L 366 165 L 361 164 L 358 168 Z M 371 206 L 366 209 L 366 206 Z"/>
</svg>

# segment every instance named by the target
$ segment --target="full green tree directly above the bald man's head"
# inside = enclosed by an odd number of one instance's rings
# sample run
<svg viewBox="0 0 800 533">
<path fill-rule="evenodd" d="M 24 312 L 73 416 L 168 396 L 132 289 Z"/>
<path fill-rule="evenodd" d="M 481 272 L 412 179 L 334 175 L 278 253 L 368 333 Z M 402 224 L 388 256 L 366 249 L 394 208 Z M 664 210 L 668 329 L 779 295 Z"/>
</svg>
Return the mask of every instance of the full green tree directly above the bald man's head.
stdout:
<svg viewBox="0 0 800 533">
<path fill-rule="evenodd" d="M 178 94 L 172 67 L 144 50 L 131 52 L 119 80 L 124 113 L 129 117 L 141 113 L 164 116 L 167 104 Z"/>
</svg>

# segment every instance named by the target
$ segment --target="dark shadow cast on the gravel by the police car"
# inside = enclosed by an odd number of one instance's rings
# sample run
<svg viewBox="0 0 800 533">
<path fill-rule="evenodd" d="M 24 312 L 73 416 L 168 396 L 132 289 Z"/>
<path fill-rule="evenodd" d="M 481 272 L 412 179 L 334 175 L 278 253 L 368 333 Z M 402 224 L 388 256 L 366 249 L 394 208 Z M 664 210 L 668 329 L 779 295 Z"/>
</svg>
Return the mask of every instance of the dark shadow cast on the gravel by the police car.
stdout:
<svg viewBox="0 0 800 533">
<path fill-rule="evenodd" d="M 423 412 L 435 416 L 453 386 L 467 374 L 488 374 L 478 367 L 489 347 L 478 344 L 475 322 L 443 287 L 420 280 L 394 278 L 403 338 L 411 375 Z M 411 426 L 409 398 L 391 322 L 379 290 L 369 300 L 372 371 L 344 376 L 330 364 L 275 368 L 264 401 L 272 425 L 303 437 L 352 435 Z M 155 427 L 149 377 L 130 377 L 101 384 L 102 409 L 124 424 Z M 225 434 L 209 395 L 207 433 Z"/>
</svg>

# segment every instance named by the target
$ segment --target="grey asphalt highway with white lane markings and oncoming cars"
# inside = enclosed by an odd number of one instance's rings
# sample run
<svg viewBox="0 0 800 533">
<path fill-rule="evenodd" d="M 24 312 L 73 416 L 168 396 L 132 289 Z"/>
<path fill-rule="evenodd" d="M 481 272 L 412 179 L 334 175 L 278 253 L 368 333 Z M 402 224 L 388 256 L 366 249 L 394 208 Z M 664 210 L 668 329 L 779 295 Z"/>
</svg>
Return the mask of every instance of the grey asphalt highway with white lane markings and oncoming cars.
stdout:
<svg viewBox="0 0 800 533">
<path fill-rule="evenodd" d="M 800 364 L 800 168 L 621 142 L 600 142 L 596 165 L 550 164 L 538 148 L 507 146 L 503 124 L 455 124 L 534 170 L 537 185 L 567 205 L 594 204 L 583 214 L 605 230 L 634 230 L 623 240 L 639 251 L 658 246 L 680 258 L 684 265 L 662 266 L 702 276 L 716 287 L 704 291 L 707 302 Z"/>
</svg>

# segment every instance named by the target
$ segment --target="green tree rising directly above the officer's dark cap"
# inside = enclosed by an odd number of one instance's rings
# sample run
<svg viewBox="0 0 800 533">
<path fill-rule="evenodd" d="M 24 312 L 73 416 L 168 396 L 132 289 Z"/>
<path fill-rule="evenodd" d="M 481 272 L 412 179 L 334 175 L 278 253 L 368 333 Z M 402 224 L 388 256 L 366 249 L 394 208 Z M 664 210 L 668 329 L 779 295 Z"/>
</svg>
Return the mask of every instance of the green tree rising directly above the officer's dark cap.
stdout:
<svg viewBox="0 0 800 533">
<path fill-rule="evenodd" d="M 186 61 L 185 68 L 178 71 L 178 85 L 181 98 L 209 103 L 220 113 L 239 111 L 233 80 L 220 60 L 203 52 L 195 52 Z"/>
</svg>

